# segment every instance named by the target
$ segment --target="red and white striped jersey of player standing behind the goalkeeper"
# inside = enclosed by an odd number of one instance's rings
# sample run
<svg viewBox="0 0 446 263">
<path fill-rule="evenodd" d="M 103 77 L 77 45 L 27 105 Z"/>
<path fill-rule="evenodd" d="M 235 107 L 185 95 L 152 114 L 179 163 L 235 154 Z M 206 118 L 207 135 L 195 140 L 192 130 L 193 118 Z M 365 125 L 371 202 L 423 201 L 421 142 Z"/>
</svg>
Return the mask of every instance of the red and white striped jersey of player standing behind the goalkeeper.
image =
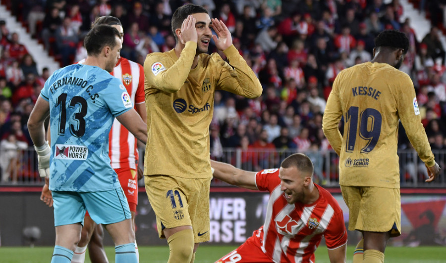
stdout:
<svg viewBox="0 0 446 263">
<path fill-rule="evenodd" d="M 121 57 L 111 75 L 122 82 L 133 105 L 144 103 L 144 68 L 140 64 Z M 109 136 L 109 156 L 113 169 L 136 169 L 138 160 L 136 138 L 116 119 Z"/>
</svg>

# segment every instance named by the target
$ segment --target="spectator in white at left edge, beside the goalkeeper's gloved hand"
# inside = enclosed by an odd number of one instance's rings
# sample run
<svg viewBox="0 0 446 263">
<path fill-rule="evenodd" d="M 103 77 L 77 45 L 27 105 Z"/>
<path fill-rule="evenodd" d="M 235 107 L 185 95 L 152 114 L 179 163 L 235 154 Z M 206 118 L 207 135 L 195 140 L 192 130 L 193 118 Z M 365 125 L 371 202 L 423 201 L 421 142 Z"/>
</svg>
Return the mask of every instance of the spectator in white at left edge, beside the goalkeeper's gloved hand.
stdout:
<svg viewBox="0 0 446 263">
<path fill-rule="evenodd" d="M 20 169 L 20 159 L 22 150 L 26 150 L 28 144 L 17 140 L 13 133 L 0 141 L 0 166 L 1 181 L 9 179 L 12 183 L 17 183 L 17 175 Z"/>
</svg>

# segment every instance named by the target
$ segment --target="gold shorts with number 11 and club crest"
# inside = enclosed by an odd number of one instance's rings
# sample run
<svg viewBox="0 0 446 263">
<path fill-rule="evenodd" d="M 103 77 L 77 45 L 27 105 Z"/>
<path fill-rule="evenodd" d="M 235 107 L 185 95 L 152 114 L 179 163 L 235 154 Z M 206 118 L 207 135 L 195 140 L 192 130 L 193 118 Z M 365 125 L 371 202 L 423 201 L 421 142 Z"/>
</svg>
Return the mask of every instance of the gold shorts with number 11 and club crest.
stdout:
<svg viewBox="0 0 446 263">
<path fill-rule="evenodd" d="M 209 187 L 211 178 L 189 179 L 168 175 L 145 175 L 150 205 L 157 216 L 160 238 L 164 228 L 191 225 L 195 243 L 210 239 Z"/>
</svg>

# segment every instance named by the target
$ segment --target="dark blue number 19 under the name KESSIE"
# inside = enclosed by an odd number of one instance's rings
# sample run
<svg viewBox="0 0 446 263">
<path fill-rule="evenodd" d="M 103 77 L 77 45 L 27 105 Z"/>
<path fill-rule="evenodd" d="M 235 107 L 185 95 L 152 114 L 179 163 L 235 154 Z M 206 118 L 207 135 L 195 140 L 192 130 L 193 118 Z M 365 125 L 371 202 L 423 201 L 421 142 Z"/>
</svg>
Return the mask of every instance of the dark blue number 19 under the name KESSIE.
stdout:
<svg viewBox="0 0 446 263">
<path fill-rule="evenodd" d="M 359 127 L 359 136 L 367 141 L 366 146 L 361 149 L 361 153 L 371 152 L 380 138 L 382 121 L 381 113 L 376 109 L 367 108 L 359 113 L 359 107 L 350 107 L 345 114 L 345 128 L 347 129 L 344 130 L 347 132 L 345 151 L 354 151 Z"/>
</svg>

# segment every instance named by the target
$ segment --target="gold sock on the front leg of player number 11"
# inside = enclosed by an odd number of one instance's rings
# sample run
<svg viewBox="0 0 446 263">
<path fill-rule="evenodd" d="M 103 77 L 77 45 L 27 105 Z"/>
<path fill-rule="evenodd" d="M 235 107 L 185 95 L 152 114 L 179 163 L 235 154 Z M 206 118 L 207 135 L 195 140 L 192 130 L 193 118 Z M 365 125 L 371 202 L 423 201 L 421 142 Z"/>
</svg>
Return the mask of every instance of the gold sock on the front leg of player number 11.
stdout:
<svg viewBox="0 0 446 263">
<path fill-rule="evenodd" d="M 184 229 L 171 235 L 167 239 L 169 244 L 169 260 L 167 263 L 187 263 L 192 260 L 194 253 L 194 232 Z"/>
</svg>

